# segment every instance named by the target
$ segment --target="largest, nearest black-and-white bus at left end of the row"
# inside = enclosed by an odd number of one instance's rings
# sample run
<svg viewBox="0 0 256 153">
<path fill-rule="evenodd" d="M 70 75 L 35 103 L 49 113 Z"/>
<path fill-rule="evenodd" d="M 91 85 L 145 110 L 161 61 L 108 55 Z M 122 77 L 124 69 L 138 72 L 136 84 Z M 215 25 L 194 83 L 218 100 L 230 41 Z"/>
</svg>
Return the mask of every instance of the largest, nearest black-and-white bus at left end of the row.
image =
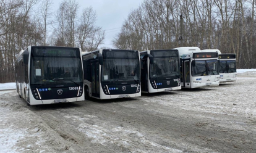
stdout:
<svg viewBox="0 0 256 153">
<path fill-rule="evenodd" d="M 29 105 L 83 101 L 79 48 L 28 46 L 15 61 L 16 89 Z"/>
</svg>

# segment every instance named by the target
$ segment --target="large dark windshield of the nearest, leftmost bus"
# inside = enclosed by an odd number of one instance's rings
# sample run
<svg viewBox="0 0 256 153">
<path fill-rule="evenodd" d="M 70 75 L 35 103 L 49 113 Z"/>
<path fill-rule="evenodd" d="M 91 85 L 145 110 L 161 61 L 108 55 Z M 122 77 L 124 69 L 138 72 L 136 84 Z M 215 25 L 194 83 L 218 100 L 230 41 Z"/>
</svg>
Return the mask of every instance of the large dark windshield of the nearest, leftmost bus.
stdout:
<svg viewBox="0 0 256 153">
<path fill-rule="evenodd" d="M 79 48 L 32 47 L 30 83 L 82 83 Z"/>
</svg>

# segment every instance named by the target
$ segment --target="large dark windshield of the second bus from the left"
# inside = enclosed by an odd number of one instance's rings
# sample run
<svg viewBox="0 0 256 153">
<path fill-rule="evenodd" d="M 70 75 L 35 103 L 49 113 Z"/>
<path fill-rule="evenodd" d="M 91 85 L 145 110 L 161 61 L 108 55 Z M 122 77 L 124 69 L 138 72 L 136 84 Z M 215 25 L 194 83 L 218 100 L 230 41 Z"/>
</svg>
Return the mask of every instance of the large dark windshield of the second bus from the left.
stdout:
<svg viewBox="0 0 256 153">
<path fill-rule="evenodd" d="M 138 51 L 103 50 L 101 81 L 140 81 Z"/>
</svg>

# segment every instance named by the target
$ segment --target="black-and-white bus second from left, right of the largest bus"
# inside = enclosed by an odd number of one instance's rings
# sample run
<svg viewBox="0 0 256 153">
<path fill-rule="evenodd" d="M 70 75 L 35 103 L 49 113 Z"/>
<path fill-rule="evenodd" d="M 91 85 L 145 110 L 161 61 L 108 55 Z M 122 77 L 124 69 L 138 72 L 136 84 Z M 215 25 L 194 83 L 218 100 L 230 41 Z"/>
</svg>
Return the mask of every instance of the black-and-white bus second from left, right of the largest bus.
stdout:
<svg viewBox="0 0 256 153">
<path fill-rule="evenodd" d="M 100 49 L 82 58 L 85 99 L 141 96 L 139 51 Z"/>
</svg>

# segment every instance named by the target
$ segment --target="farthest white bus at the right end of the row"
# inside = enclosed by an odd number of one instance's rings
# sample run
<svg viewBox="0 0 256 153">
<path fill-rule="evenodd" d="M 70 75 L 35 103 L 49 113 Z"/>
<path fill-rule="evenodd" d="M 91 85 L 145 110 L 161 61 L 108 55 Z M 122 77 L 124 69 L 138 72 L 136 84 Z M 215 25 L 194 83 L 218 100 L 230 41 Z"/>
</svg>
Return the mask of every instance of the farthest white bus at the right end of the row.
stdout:
<svg viewBox="0 0 256 153">
<path fill-rule="evenodd" d="M 220 83 L 236 81 L 236 54 L 221 54 L 218 49 L 205 49 L 203 52 L 218 52 Z"/>
</svg>

